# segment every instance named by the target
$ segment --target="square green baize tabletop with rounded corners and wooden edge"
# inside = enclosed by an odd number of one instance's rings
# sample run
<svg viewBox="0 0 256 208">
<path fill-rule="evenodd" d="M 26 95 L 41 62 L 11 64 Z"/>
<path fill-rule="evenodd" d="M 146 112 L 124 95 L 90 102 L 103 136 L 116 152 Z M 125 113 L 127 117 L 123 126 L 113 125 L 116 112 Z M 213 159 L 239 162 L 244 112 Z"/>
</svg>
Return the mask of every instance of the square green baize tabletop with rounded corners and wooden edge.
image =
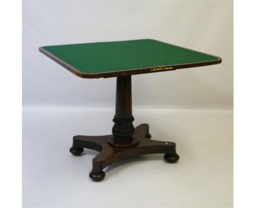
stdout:
<svg viewBox="0 0 256 208">
<path fill-rule="evenodd" d="M 39 51 L 83 78 L 136 75 L 222 62 L 217 56 L 152 39 L 43 46 Z"/>
</svg>

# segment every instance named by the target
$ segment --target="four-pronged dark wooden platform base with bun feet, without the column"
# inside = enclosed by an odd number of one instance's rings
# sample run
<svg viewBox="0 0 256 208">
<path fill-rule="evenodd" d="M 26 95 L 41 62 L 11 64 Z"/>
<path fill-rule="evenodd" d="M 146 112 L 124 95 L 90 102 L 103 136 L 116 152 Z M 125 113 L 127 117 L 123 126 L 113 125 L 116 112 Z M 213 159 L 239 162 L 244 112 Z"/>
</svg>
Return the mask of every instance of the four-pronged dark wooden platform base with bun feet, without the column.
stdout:
<svg viewBox="0 0 256 208">
<path fill-rule="evenodd" d="M 70 152 L 78 156 L 83 152 L 83 148 L 99 151 L 92 160 L 92 171 L 90 178 L 94 181 L 104 179 L 103 169 L 110 164 L 123 160 L 124 158 L 144 155 L 144 154 L 165 154 L 165 160 L 170 163 L 177 162 L 179 156 L 176 153 L 176 144 L 173 142 L 160 142 L 149 139 L 149 125 L 141 124 L 135 128 L 134 137 L 138 139 L 136 144 L 130 146 L 117 146 L 109 142 L 112 135 L 106 136 L 74 136 L 73 146 Z"/>
</svg>

